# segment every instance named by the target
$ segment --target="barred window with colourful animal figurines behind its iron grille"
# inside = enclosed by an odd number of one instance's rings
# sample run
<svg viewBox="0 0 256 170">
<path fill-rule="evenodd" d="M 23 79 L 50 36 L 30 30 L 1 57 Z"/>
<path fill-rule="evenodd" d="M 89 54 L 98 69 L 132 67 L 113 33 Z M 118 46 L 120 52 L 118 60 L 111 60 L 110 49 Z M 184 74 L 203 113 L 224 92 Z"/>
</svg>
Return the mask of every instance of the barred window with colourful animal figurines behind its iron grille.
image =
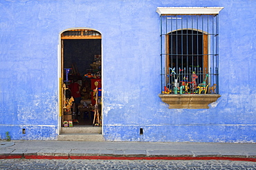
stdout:
<svg viewBox="0 0 256 170">
<path fill-rule="evenodd" d="M 218 14 L 161 14 L 161 93 L 219 94 Z"/>
</svg>

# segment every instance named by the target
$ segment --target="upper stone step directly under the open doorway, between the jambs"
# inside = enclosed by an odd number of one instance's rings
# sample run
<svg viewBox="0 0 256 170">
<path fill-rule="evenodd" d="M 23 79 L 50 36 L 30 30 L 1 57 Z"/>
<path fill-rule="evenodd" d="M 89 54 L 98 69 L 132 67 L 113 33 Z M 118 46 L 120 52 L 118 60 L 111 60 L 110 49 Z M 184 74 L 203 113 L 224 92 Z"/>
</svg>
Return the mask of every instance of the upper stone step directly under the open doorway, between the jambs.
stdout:
<svg viewBox="0 0 256 170">
<path fill-rule="evenodd" d="M 60 134 L 101 134 L 101 128 L 93 126 L 62 127 Z"/>
</svg>

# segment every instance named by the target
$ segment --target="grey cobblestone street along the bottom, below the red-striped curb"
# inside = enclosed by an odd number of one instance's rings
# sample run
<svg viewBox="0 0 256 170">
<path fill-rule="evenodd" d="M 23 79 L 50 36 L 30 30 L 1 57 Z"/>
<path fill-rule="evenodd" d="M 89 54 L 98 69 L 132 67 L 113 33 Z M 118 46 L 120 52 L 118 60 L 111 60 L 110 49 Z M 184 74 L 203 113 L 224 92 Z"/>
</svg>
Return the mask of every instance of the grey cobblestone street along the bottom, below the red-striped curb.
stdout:
<svg viewBox="0 0 256 170">
<path fill-rule="evenodd" d="M 0 169 L 256 169 L 256 162 L 230 160 L 31 160 L 1 159 Z"/>
</svg>

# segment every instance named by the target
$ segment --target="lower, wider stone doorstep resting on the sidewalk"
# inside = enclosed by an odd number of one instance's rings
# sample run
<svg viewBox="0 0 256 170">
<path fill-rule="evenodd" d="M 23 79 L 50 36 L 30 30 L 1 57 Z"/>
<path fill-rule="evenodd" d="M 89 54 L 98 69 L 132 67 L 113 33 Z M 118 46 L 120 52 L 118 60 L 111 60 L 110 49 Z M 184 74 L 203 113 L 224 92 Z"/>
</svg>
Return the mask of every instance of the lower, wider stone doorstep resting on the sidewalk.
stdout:
<svg viewBox="0 0 256 170">
<path fill-rule="evenodd" d="M 104 137 L 102 134 L 60 134 L 57 140 L 102 142 Z"/>
</svg>

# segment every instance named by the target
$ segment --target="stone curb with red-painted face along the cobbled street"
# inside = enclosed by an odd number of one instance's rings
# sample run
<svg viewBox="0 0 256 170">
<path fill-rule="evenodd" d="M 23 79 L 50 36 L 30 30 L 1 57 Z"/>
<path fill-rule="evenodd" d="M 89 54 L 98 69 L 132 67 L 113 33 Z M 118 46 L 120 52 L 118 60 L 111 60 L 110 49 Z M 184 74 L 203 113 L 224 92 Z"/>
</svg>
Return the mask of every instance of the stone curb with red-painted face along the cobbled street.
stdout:
<svg viewBox="0 0 256 170">
<path fill-rule="evenodd" d="M 133 149 L 0 149 L 0 159 L 237 160 L 256 162 L 256 153 Z"/>
</svg>

